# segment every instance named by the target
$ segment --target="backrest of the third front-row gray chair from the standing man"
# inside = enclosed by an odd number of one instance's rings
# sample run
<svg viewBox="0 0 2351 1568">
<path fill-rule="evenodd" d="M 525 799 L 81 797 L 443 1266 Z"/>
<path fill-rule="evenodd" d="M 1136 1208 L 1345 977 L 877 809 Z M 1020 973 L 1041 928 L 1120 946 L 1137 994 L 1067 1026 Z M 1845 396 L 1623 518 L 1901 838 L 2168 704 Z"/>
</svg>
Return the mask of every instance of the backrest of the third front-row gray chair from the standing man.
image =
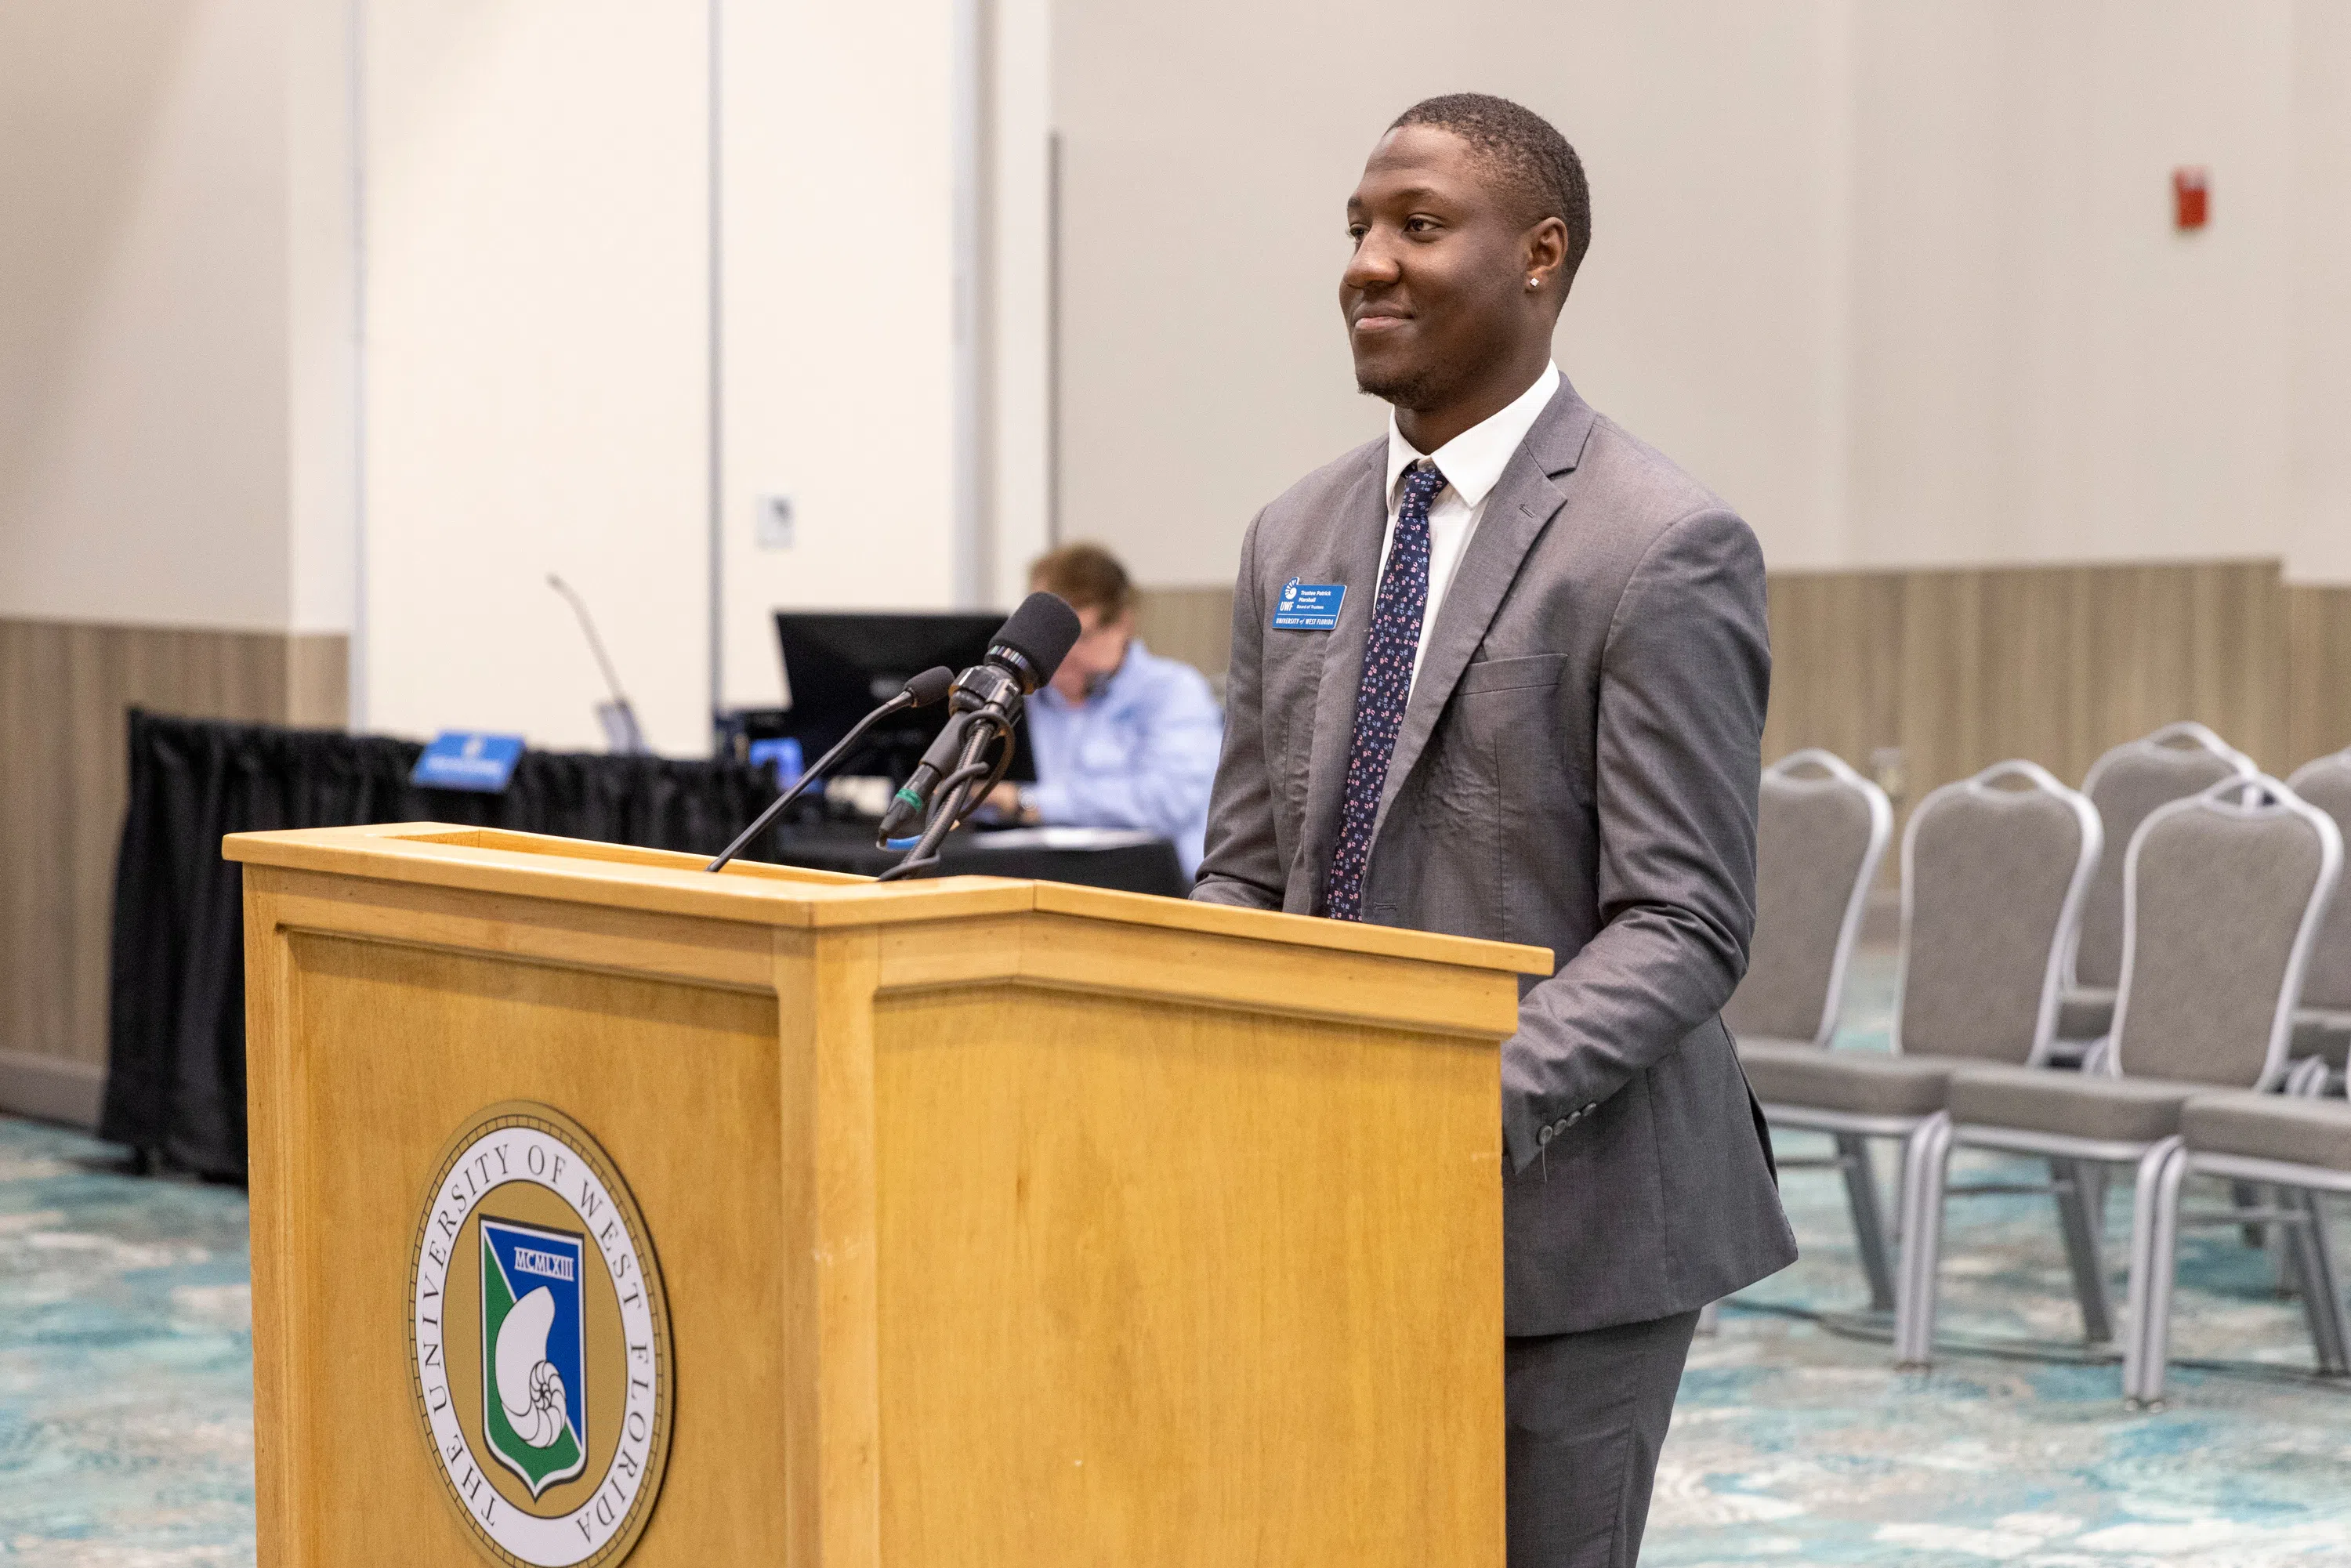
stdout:
<svg viewBox="0 0 2351 1568">
<path fill-rule="evenodd" d="M 2259 773 L 2156 806 L 2123 858 L 2109 1067 L 2276 1086 L 2342 858 L 2335 818 Z"/>
</svg>

